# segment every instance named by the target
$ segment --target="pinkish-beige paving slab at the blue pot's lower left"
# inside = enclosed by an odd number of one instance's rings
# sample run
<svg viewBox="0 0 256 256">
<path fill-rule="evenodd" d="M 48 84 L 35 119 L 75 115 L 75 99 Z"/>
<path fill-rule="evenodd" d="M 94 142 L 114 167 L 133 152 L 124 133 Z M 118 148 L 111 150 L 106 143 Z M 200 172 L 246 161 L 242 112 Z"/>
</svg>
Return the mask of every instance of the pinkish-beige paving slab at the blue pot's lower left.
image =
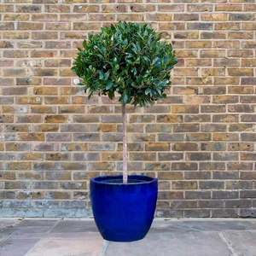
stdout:
<svg viewBox="0 0 256 256">
<path fill-rule="evenodd" d="M 102 250 L 103 239 L 97 233 L 79 232 L 76 237 L 73 237 L 73 233 L 69 237 L 58 236 L 41 239 L 26 256 L 99 256 Z"/>
</svg>

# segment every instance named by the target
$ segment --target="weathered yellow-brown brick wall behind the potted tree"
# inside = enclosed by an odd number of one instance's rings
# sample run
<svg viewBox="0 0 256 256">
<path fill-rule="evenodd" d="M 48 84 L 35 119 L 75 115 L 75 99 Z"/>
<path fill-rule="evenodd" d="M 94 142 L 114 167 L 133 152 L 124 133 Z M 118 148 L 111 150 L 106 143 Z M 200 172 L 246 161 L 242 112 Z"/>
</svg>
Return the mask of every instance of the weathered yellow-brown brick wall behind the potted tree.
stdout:
<svg viewBox="0 0 256 256">
<path fill-rule="evenodd" d="M 118 100 L 70 71 L 89 32 L 150 23 L 172 89 L 128 106 L 129 170 L 159 178 L 158 217 L 256 214 L 255 0 L 2 0 L 0 217 L 88 217 L 89 179 L 121 172 Z"/>
</svg>

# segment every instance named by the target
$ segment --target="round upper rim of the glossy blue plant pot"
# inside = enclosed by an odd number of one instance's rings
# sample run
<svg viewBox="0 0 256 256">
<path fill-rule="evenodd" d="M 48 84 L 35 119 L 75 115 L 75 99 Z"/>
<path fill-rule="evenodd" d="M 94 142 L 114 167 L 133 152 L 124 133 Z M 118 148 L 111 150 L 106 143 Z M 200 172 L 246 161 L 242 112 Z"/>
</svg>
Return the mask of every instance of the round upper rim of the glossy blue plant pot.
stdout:
<svg viewBox="0 0 256 256">
<path fill-rule="evenodd" d="M 108 180 L 113 179 L 123 179 L 123 175 L 107 175 L 107 176 L 98 176 L 98 177 L 92 177 L 90 178 L 91 183 L 98 183 L 98 184 L 109 184 L 109 185 L 138 185 L 138 184 L 148 184 L 148 183 L 154 183 L 158 181 L 157 177 L 150 177 L 147 175 L 128 175 L 129 179 L 137 179 L 141 180 L 142 182 L 136 182 L 136 183 L 108 183 Z"/>
</svg>

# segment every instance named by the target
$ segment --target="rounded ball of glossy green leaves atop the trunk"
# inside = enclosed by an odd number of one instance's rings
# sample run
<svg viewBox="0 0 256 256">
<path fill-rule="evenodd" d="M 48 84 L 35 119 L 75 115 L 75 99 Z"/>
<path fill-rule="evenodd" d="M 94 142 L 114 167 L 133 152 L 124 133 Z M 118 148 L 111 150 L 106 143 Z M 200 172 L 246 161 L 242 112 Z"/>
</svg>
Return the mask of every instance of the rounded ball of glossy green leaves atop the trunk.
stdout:
<svg viewBox="0 0 256 256">
<path fill-rule="evenodd" d="M 83 79 L 82 89 L 120 95 L 119 102 L 141 107 L 165 97 L 171 85 L 170 71 L 177 63 L 171 44 L 147 24 L 121 22 L 102 27 L 84 40 L 72 70 Z"/>
</svg>

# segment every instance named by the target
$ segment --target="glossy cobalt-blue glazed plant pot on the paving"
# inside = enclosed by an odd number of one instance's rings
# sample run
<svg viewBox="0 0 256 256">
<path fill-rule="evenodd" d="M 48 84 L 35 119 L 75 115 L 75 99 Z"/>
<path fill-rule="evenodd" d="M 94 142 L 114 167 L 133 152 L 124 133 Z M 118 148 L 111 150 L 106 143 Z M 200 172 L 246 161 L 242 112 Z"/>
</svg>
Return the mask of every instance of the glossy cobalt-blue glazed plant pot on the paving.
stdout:
<svg viewBox="0 0 256 256">
<path fill-rule="evenodd" d="M 154 219 L 157 178 L 101 176 L 90 179 L 90 201 L 96 226 L 108 241 L 143 239 Z"/>
</svg>

